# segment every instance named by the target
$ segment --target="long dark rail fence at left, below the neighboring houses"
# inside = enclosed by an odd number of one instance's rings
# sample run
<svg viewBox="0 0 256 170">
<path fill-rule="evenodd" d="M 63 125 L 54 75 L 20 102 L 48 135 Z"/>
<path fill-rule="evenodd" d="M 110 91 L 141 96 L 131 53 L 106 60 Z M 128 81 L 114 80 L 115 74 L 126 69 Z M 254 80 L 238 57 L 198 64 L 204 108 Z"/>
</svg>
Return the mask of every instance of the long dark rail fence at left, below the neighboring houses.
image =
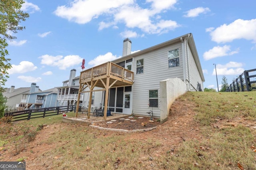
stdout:
<svg viewBox="0 0 256 170">
<path fill-rule="evenodd" d="M 10 113 L 4 113 L 4 116 L 5 117 L 12 116 L 12 121 L 22 121 L 22 120 L 39 118 L 39 117 L 58 115 L 66 111 L 74 111 L 74 110 L 76 110 L 76 105 L 15 111 Z"/>
</svg>

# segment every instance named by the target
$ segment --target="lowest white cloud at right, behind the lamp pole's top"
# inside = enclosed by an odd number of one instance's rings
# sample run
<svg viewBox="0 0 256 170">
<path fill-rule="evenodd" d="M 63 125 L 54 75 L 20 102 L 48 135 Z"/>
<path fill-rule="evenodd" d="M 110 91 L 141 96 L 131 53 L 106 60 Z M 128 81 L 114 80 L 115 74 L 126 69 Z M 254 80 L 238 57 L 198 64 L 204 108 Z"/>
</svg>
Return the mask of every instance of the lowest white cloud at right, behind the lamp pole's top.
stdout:
<svg viewBox="0 0 256 170">
<path fill-rule="evenodd" d="M 238 75 L 242 74 L 244 72 L 244 68 L 242 68 L 243 64 L 242 63 L 237 63 L 234 61 L 230 61 L 229 63 L 222 65 L 222 64 L 217 64 L 216 65 L 216 70 L 217 70 L 217 75 Z M 216 75 L 215 68 L 212 72 L 212 75 Z"/>
</svg>

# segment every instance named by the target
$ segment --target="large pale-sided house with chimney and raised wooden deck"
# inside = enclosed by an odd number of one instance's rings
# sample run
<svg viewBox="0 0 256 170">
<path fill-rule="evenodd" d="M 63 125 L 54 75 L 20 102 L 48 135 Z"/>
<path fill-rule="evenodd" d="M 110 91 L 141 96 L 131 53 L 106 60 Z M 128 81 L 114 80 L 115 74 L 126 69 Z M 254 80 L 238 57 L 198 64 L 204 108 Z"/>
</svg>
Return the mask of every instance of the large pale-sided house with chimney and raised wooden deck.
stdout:
<svg viewBox="0 0 256 170">
<path fill-rule="evenodd" d="M 82 71 L 79 93 L 92 96 L 101 92 L 102 106 L 112 112 L 148 115 L 146 112 L 153 110 L 154 117 L 164 115 L 166 119 L 170 106 L 161 106 L 161 81 L 178 78 L 183 81 L 184 92 L 204 89 L 204 75 L 191 33 L 133 54 L 131 45 L 130 39 L 125 39 L 123 57 Z"/>
</svg>

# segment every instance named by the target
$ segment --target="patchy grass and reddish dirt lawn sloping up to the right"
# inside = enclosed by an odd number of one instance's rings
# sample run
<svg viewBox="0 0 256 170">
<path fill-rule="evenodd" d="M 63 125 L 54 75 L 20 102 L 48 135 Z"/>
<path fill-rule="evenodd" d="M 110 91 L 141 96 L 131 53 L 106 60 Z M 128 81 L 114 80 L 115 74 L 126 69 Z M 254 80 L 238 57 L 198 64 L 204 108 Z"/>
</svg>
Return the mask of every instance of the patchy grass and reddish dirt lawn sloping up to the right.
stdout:
<svg viewBox="0 0 256 170">
<path fill-rule="evenodd" d="M 27 169 L 255 170 L 256 92 L 187 92 L 144 133 L 64 123 L 61 114 L 1 121 L 0 161 L 18 160 Z"/>
</svg>

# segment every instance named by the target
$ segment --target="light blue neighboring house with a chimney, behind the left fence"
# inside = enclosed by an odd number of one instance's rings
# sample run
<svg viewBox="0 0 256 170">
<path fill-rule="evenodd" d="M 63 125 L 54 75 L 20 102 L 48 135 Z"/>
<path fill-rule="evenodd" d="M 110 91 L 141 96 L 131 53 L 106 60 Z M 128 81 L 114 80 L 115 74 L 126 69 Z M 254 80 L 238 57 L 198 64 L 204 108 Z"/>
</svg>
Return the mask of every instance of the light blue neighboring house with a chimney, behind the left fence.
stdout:
<svg viewBox="0 0 256 170">
<path fill-rule="evenodd" d="M 58 106 L 57 102 L 57 88 L 51 88 L 48 90 L 37 90 L 34 89 L 36 83 L 31 84 L 31 90 L 27 94 L 23 94 L 20 104 L 17 106 L 18 110 L 24 109 L 39 109 L 47 107 L 56 107 Z"/>
</svg>

